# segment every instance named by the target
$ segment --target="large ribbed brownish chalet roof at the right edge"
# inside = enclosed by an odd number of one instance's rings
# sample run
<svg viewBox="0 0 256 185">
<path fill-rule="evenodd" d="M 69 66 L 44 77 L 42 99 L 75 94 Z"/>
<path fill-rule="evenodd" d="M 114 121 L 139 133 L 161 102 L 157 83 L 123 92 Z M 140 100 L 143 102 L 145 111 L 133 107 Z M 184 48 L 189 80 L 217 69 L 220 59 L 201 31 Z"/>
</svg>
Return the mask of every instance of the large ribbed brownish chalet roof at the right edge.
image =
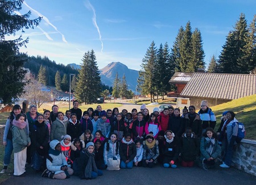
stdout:
<svg viewBox="0 0 256 185">
<path fill-rule="evenodd" d="M 238 99 L 253 94 L 255 74 L 194 73 L 180 96 Z"/>
</svg>

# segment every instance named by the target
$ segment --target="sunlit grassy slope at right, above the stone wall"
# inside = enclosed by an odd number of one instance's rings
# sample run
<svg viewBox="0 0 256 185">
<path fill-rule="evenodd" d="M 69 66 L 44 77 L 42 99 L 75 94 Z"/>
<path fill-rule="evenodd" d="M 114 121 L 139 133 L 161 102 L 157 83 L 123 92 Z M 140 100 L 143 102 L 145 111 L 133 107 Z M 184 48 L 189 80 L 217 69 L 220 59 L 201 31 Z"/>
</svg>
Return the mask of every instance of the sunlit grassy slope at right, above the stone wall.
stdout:
<svg viewBox="0 0 256 185">
<path fill-rule="evenodd" d="M 233 111 L 236 113 L 236 119 L 245 125 L 245 138 L 256 140 L 256 94 L 246 96 L 245 98 L 235 99 L 228 103 L 219 104 L 210 107 L 216 115 L 216 129 L 220 126 L 220 117 L 224 111 Z"/>
</svg>

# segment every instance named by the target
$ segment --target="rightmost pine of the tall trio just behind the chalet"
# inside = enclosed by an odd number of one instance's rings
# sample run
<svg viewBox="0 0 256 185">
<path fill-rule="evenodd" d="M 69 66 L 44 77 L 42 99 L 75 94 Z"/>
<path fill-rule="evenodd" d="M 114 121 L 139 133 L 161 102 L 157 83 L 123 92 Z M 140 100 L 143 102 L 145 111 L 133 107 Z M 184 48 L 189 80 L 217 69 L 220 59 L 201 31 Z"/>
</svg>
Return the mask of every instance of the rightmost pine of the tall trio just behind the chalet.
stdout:
<svg viewBox="0 0 256 185">
<path fill-rule="evenodd" d="M 197 69 L 205 68 L 203 40 L 198 28 L 192 33 L 191 45 L 191 61 L 188 62 L 187 72 L 197 72 Z"/>
</svg>

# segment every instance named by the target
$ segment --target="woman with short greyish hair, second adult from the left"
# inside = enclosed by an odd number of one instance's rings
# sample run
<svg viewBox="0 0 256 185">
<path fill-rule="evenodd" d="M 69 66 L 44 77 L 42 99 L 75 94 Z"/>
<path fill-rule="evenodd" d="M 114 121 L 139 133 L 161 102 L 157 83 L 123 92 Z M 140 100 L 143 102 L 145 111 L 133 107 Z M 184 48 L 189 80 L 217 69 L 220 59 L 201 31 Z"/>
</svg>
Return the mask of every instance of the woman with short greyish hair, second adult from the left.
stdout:
<svg viewBox="0 0 256 185">
<path fill-rule="evenodd" d="M 36 107 L 35 105 L 31 105 L 28 110 L 29 111 L 26 113 L 26 116 L 27 116 L 27 121 L 28 121 L 28 128 L 30 129 L 29 137 L 31 138 L 32 131 L 34 129 L 33 127 L 34 127 L 35 121 L 36 121 L 39 113 L 38 113 L 38 107 Z M 32 157 L 31 146 L 27 146 L 27 163 L 31 162 L 31 157 Z"/>
</svg>

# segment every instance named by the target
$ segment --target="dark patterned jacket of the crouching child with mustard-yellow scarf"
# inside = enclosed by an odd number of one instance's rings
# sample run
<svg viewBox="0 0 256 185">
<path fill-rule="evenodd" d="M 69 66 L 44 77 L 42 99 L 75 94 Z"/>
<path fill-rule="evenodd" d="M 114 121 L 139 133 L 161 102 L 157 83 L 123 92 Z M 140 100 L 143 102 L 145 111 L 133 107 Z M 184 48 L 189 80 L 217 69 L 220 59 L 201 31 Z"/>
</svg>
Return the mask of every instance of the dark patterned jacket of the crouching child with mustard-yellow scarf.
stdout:
<svg viewBox="0 0 256 185">
<path fill-rule="evenodd" d="M 146 145 L 146 142 L 143 141 L 143 160 L 150 160 L 153 159 L 154 163 L 157 163 L 157 159 L 159 156 L 159 148 L 158 148 L 158 141 L 155 141 L 155 146 L 149 149 Z"/>
</svg>

